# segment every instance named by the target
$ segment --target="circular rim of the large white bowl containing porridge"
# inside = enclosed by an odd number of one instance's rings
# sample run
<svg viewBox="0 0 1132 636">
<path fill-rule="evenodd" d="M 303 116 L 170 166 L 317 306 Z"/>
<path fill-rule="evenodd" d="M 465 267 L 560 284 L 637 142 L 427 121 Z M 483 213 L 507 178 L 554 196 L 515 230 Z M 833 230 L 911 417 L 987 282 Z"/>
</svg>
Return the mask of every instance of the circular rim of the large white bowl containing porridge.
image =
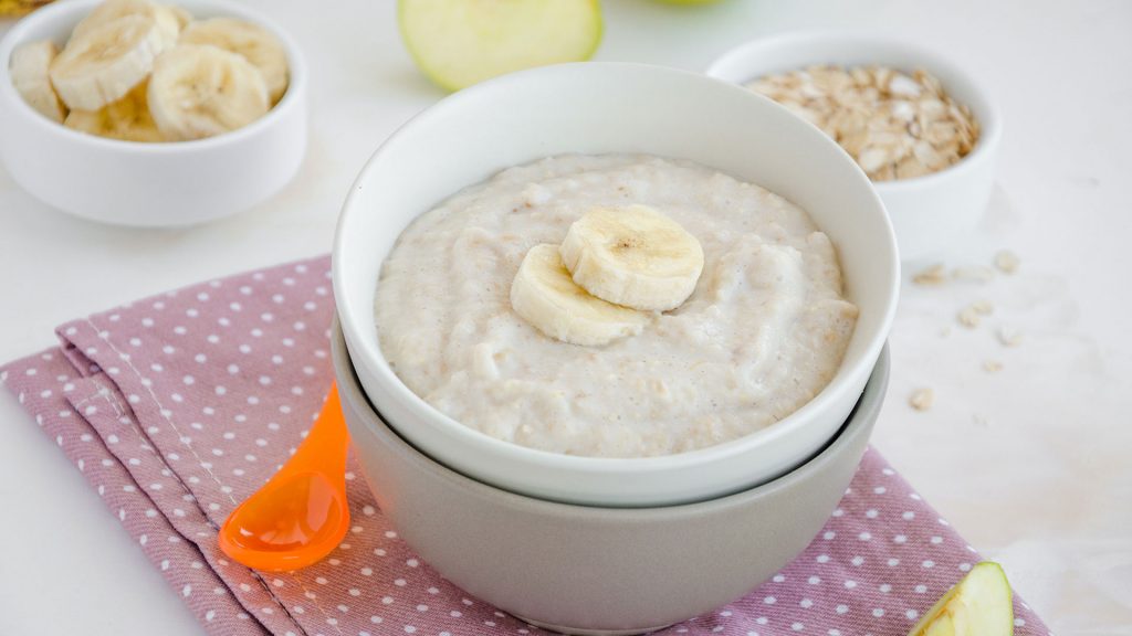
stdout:
<svg viewBox="0 0 1132 636">
<path fill-rule="evenodd" d="M 503 91 L 504 87 L 514 84 L 526 81 L 529 76 L 535 74 L 552 74 L 563 72 L 565 69 L 571 68 L 608 68 L 608 69 L 637 69 L 641 72 L 655 72 L 655 74 L 669 74 L 674 77 L 680 77 L 685 80 L 691 81 L 704 81 L 711 83 L 715 89 L 731 92 L 734 95 L 741 96 L 744 100 L 752 100 L 762 102 L 766 105 L 773 106 L 775 110 L 781 110 L 781 112 L 789 114 L 791 118 L 795 115 L 790 114 L 789 111 L 778 104 L 777 102 L 758 95 L 747 88 L 735 85 L 729 81 L 723 81 L 718 78 L 709 77 L 701 72 L 677 69 L 671 67 L 662 67 L 657 65 L 646 65 L 640 62 L 573 62 L 564 65 L 552 65 L 547 67 L 539 67 L 528 70 L 522 70 L 517 72 L 507 74 L 499 76 L 486 81 L 479 83 L 469 88 L 464 88 L 457 93 L 453 93 L 432 106 L 422 110 L 417 113 L 404 123 L 401 124 L 396 130 L 394 130 L 380 146 L 374 152 L 374 154 L 367 160 L 366 164 L 361 167 L 358 177 L 353 181 L 350 192 L 346 196 L 342 210 L 338 216 L 338 223 L 335 231 L 334 248 L 333 248 L 333 283 L 335 290 L 335 302 L 338 304 L 338 312 L 342 316 L 343 332 L 359 332 L 363 328 L 353 320 L 354 311 L 351 310 L 353 302 L 351 296 L 346 293 L 344 287 L 344 282 L 342 281 L 342 275 L 345 265 L 342 263 L 343 253 L 348 251 L 348 244 L 351 242 L 350 237 L 352 232 L 348 229 L 352 225 L 350 218 L 354 215 L 363 214 L 359 210 L 361 206 L 357 203 L 357 197 L 359 192 L 365 189 L 365 181 L 369 178 L 369 173 L 377 169 L 380 163 L 379 160 L 384 157 L 384 153 L 389 147 L 392 143 L 398 139 L 404 131 L 410 127 L 415 127 L 422 122 L 428 122 L 434 118 L 444 117 L 444 113 L 452 108 L 458 108 L 464 101 L 474 100 L 481 92 L 486 91 Z M 814 129 L 814 132 L 820 135 L 822 144 L 826 144 L 831 151 L 843 156 L 844 161 L 849 162 L 855 171 L 859 174 L 863 183 L 868 187 L 868 194 L 873 199 L 875 208 L 878 210 L 880 221 L 887 229 L 886 238 L 887 244 L 891 247 L 890 250 L 890 263 L 887 264 L 887 269 L 891 272 L 891 280 L 887 281 L 887 293 L 886 302 L 884 307 L 878 308 L 881 316 L 878 325 L 881 328 L 876 333 L 866 336 L 868 340 L 863 345 L 864 354 L 859 360 L 856 361 L 854 369 L 849 373 L 842 377 L 835 377 L 829 385 L 822 388 L 813 398 L 807 403 L 803 404 L 798 410 L 790 413 L 786 418 L 782 418 L 773 426 L 753 431 L 745 436 L 738 437 L 732 440 L 728 440 L 721 444 L 715 444 L 712 446 L 706 446 L 703 448 L 697 448 L 694 450 L 688 450 L 685 453 L 670 454 L 670 455 L 658 455 L 649 457 L 593 457 L 593 456 L 582 456 L 582 455 L 566 455 L 561 453 L 554 453 L 550 450 L 543 450 L 539 448 L 531 448 L 522 446 L 518 444 L 505 441 L 491 437 L 482 431 L 472 429 L 471 427 L 460 423 L 456 419 L 445 414 L 440 410 L 436 409 L 431 404 L 427 403 L 422 397 L 412 392 L 396 373 L 389 368 L 387 360 L 385 360 L 384 354 L 381 354 L 380 347 L 376 347 L 377 358 L 379 361 L 369 360 L 367 356 L 361 358 L 360 364 L 366 367 L 367 371 L 375 375 L 377 380 L 384 385 L 391 393 L 396 393 L 400 399 L 404 404 L 411 404 L 414 409 L 419 410 L 424 414 L 427 420 L 427 426 L 434 426 L 441 428 L 446 433 L 454 437 L 458 444 L 469 445 L 471 448 L 475 448 L 480 452 L 490 453 L 496 456 L 505 457 L 508 461 L 521 462 L 525 465 L 541 465 L 554 470 L 560 471 L 572 471 L 575 473 L 590 473 L 590 474 L 601 474 L 606 476 L 617 476 L 617 475 L 651 475 L 664 473 L 668 471 L 679 471 L 694 469 L 696 466 L 702 466 L 707 463 L 714 463 L 722 459 L 731 458 L 735 456 L 741 456 L 748 452 L 751 446 L 757 446 L 762 444 L 770 442 L 782 436 L 790 435 L 794 428 L 804 424 L 808 421 L 809 414 L 824 407 L 826 403 L 835 399 L 833 390 L 844 389 L 846 385 L 851 381 L 851 378 L 858 373 L 863 373 L 866 370 L 871 371 L 872 367 L 876 363 L 876 356 L 880 355 L 882 347 L 885 344 L 887 337 L 889 328 L 891 327 L 892 320 L 895 316 L 897 300 L 899 298 L 900 289 L 900 258 L 897 248 L 895 233 L 892 229 L 891 220 L 887 214 L 884 213 L 884 204 L 881 200 L 875 188 L 868 181 L 860 167 L 852 161 L 852 158 L 841 148 L 833 139 L 829 138 L 824 134 Z M 451 195 L 449 195 L 451 196 Z M 358 210 L 358 212 L 354 212 Z M 422 210 L 423 214 L 424 210 Z M 368 323 L 371 326 L 371 321 Z M 351 343 L 351 338 L 346 338 L 348 345 Z M 353 352 L 358 353 L 358 352 Z M 839 371 L 843 369 L 846 362 L 842 361 Z M 357 367 L 357 363 L 355 363 Z M 834 386 L 837 385 L 837 386 Z M 833 387 L 833 390 L 831 390 Z M 391 424 L 394 426 L 395 424 Z"/>
</svg>

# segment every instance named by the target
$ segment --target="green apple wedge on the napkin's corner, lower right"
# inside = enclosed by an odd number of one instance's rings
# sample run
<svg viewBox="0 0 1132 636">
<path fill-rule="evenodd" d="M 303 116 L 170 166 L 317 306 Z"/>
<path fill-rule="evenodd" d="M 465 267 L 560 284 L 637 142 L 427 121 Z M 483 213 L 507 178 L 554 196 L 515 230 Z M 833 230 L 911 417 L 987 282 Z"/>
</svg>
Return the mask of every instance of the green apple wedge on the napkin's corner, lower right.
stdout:
<svg viewBox="0 0 1132 636">
<path fill-rule="evenodd" d="M 983 561 L 947 591 L 908 636 L 1011 636 L 1014 604 L 998 564 Z"/>
</svg>

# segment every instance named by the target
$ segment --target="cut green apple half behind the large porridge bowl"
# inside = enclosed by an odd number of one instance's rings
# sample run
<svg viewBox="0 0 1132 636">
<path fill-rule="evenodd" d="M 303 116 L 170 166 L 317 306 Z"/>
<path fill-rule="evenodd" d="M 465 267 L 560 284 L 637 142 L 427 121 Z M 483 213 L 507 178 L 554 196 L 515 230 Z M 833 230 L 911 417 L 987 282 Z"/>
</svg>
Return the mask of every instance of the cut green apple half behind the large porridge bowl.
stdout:
<svg viewBox="0 0 1132 636">
<path fill-rule="evenodd" d="M 417 66 L 448 91 L 588 60 L 602 32 L 599 0 L 400 0 L 397 22 Z"/>
</svg>

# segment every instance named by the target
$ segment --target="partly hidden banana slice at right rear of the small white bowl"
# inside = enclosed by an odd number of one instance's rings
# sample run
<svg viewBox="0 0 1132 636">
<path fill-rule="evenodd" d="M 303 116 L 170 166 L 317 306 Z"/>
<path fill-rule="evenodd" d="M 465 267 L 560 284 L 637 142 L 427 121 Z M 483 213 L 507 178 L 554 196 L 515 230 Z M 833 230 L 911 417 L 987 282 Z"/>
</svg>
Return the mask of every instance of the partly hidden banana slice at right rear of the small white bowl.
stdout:
<svg viewBox="0 0 1132 636">
<path fill-rule="evenodd" d="M 192 23 L 181 35 L 181 44 L 212 44 L 217 49 L 243 55 L 264 74 L 267 95 L 278 102 L 286 91 L 286 51 L 266 28 L 235 18 L 212 18 Z"/>
</svg>

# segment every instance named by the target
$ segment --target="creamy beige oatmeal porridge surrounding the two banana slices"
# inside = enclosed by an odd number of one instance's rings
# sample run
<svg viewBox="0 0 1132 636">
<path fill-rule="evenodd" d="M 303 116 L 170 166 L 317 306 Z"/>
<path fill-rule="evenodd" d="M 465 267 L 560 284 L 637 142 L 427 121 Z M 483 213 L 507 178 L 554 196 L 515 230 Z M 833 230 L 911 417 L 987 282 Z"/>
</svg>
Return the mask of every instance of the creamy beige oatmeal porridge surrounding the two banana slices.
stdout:
<svg viewBox="0 0 1132 636">
<path fill-rule="evenodd" d="M 526 250 L 593 206 L 644 204 L 703 246 L 692 296 L 603 347 L 558 342 L 511 308 Z M 381 352 L 464 426 L 571 455 L 681 453 L 765 428 L 833 378 L 857 308 L 797 206 L 684 161 L 566 155 L 505 170 L 421 215 L 381 267 Z"/>
</svg>

